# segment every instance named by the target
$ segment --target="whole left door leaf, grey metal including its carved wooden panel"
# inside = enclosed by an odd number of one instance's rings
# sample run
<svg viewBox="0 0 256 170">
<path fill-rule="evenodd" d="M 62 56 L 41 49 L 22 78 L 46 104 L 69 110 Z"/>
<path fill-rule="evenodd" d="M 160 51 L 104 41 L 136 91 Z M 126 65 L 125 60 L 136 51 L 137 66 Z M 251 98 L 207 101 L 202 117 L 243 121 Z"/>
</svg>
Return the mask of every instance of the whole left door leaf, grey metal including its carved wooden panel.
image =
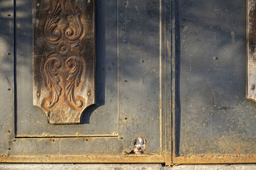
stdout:
<svg viewBox="0 0 256 170">
<path fill-rule="evenodd" d="M 0 162 L 171 164 L 171 1 L 0 4 Z"/>
</svg>

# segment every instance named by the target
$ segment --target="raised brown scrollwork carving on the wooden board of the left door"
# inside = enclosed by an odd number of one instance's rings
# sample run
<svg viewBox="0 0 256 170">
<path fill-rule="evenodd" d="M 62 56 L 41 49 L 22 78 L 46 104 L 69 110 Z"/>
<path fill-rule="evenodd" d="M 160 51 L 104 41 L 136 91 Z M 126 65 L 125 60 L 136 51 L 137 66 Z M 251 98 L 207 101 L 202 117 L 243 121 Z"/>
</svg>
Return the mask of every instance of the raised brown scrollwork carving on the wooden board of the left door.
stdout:
<svg viewBox="0 0 256 170">
<path fill-rule="evenodd" d="M 51 90 L 51 97 L 44 99 L 46 109 L 55 106 L 61 97 L 67 99 L 61 101 L 71 104 L 74 108 L 84 106 L 83 97 L 76 96 L 76 89 L 79 88 L 81 76 L 85 71 L 79 40 L 83 31 L 81 10 L 76 1 L 52 0 L 52 9 L 47 15 L 44 27 L 47 46 L 43 73 L 44 81 Z M 61 94 L 62 89 L 65 89 L 64 94 Z M 49 98 L 51 101 L 47 100 Z"/>
</svg>

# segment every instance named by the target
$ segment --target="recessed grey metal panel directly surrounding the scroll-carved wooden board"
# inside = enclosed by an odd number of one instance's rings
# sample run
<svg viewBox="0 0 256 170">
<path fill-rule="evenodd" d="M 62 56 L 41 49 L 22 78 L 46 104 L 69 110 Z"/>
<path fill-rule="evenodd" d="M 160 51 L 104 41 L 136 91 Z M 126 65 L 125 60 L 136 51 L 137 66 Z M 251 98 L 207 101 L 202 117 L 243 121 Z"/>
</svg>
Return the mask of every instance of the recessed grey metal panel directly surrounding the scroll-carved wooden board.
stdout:
<svg viewBox="0 0 256 170">
<path fill-rule="evenodd" d="M 116 136 L 118 132 L 117 103 L 117 48 L 116 48 L 116 2 L 97 2 L 97 60 L 96 99 L 97 104 L 83 113 L 80 125 L 51 125 L 45 113 L 33 106 L 32 80 L 32 24 L 33 1 L 22 1 L 17 5 L 17 137 L 45 136 Z M 36 4 L 35 4 L 36 5 Z M 109 12 L 111 11 L 111 12 Z M 23 15 L 26 13 L 27 15 Z M 35 13 L 35 12 L 34 12 Z M 113 29 L 114 28 L 114 29 Z M 26 88 L 24 88 L 26 87 Z M 109 124 L 111 122 L 111 124 Z M 113 133 L 116 134 L 113 134 Z"/>
</svg>

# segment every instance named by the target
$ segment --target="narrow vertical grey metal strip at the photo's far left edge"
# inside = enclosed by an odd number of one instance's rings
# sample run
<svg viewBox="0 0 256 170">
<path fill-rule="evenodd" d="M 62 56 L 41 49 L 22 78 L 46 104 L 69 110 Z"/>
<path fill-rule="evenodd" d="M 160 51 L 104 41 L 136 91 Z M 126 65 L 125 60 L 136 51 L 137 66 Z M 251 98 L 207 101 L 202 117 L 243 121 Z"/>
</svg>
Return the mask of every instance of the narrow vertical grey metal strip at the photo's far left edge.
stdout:
<svg viewBox="0 0 256 170">
<path fill-rule="evenodd" d="M 13 1 L 0 1 L 0 157 L 8 155 L 13 138 L 14 85 L 14 12 Z"/>
</svg>

